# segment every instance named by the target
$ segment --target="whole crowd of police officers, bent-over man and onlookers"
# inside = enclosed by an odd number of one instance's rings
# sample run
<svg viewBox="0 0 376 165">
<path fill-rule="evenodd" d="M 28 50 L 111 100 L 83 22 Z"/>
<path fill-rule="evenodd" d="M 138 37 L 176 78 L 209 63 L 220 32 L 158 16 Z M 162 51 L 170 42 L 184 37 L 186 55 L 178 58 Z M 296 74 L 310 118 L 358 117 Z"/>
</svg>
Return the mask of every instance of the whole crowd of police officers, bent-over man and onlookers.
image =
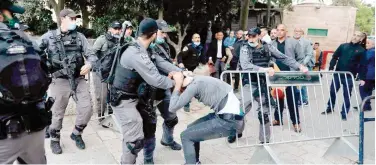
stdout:
<svg viewBox="0 0 376 165">
<path fill-rule="evenodd" d="M 114 21 L 91 46 L 76 30 L 76 19 L 81 16 L 71 9 L 63 9 L 59 13 L 59 27 L 41 36 L 37 45 L 23 33 L 14 17 L 14 13 L 24 13 L 22 7 L 7 1 L 0 9 L 1 164 L 15 160 L 45 164 L 44 138 L 50 138 L 52 153 L 62 154 L 60 131 L 71 97 L 76 102 L 77 116 L 70 138 L 79 149 L 86 148 L 82 133 L 93 115 L 89 85 L 85 80 L 90 72 L 96 112 L 99 116 L 103 116 L 105 110 L 113 113 L 121 127 L 121 164 L 135 164 L 141 150 L 144 163 L 154 164 L 156 108 L 164 119 L 160 144 L 172 150 L 183 149 L 186 164 L 199 164 L 200 142 L 228 137 L 228 142 L 232 143 L 236 136 L 241 137 L 244 116 L 251 110 L 253 101 L 258 102 L 260 143 L 269 143 L 270 125 L 283 124 L 284 99 L 287 99 L 295 132 L 301 132 L 297 109 L 309 104 L 306 87 L 301 90 L 287 87 L 286 98 L 279 98 L 280 108 L 275 109 L 274 120 L 270 121 L 269 111 L 262 109 L 273 108 L 269 105 L 274 104 L 269 103 L 275 100 L 268 96 L 265 74 L 273 76 L 275 67 L 281 71 L 306 73 L 320 70 L 322 65 L 319 43 L 305 39 L 301 28 L 295 28 L 294 36 L 288 37 L 283 24 L 270 33 L 258 27 L 235 33 L 230 29 L 212 31 L 209 23 L 206 38 L 201 40 L 198 33 L 193 34 L 192 42 L 177 54 L 175 64 L 166 43 L 171 29 L 164 20 L 145 18 L 135 38 L 131 36 L 134 26 L 129 21 Z M 375 85 L 374 47 L 374 41 L 366 40 L 365 33 L 355 32 L 350 43 L 338 47 L 329 66 L 329 70 L 359 75 L 362 98 L 371 95 Z M 109 72 L 104 72 L 103 61 L 108 58 L 112 59 L 112 65 Z M 194 75 L 200 65 L 211 65 L 215 71 L 211 76 Z M 220 76 L 226 70 L 263 74 L 238 74 L 221 81 Z M 350 87 L 349 91 L 344 90 L 341 112 L 342 119 L 346 120 L 354 85 L 348 84 L 352 82 L 348 77 L 351 76 L 334 76 L 331 99 L 323 114 L 333 112 L 332 100 L 342 84 Z M 234 84 L 231 84 L 232 79 Z M 244 96 L 238 98 L 235 93 L 240 85 Z M 302 102 L 295 100 L 299 95 Z M 189 112 L 192 98 L 214 112 L 188 125 L 180 133 L 182 144 L 179 144 L 173 136 L 179 123 L 176 111 L 183 108 Z M 240 106 L 242 103 L 244 109 Z M 371 110 L 369 103 L 366 110 Z"/>
</svg>

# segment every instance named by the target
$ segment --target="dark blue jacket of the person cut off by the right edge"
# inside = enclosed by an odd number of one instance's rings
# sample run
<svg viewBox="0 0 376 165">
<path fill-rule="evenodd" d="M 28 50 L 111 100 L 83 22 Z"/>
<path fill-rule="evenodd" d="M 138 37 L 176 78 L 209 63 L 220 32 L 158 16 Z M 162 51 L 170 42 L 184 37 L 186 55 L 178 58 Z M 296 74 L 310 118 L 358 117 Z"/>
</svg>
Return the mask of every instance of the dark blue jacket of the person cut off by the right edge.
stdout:
<svg viewBox="0 0 376 165">
<path fill-rule="evenodd" d="M 359 79 L 375 80 L 375 48 L 368 49 L 365 55 L 362 56 Z"/>
</svg>

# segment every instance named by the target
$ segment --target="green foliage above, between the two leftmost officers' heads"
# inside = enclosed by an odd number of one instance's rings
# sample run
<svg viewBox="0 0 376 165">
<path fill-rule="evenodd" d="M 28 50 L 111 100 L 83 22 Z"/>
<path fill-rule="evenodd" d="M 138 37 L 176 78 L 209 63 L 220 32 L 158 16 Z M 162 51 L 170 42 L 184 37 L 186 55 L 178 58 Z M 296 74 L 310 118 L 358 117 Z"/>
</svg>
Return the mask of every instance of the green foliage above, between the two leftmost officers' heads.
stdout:
<svg viewBox="0 0 376 165">
<path fill-rule="evenodd" d="M 52 12 L 44 8 L 44 1 L 25 0 L 20 1 L 19 5 L 23 6 L 26 12 L 19 15 L 19 19 L 27 24 L 35 35 L 41 35 L 48 31 L 49 26 L 54 22 Z"/>
</svg>

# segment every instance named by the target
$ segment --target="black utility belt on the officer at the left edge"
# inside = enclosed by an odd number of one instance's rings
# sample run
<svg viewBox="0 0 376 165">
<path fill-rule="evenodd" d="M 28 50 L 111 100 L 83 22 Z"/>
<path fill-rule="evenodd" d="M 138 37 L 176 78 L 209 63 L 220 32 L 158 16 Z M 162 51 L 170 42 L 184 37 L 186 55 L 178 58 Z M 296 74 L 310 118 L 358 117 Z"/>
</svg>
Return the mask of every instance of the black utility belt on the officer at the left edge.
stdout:
<svg viewBox="0 0 376 165">
<path fill-rule="evenodd" d="M 46 102 L 15 106 L 12 108 L 13 113 L 0 113 L 0 140 L 14 139 L 24 132 L 43 130 L 51 124 L 50 110 L 54 102 L 54 99 L 50 97 Z"/>
</svg>

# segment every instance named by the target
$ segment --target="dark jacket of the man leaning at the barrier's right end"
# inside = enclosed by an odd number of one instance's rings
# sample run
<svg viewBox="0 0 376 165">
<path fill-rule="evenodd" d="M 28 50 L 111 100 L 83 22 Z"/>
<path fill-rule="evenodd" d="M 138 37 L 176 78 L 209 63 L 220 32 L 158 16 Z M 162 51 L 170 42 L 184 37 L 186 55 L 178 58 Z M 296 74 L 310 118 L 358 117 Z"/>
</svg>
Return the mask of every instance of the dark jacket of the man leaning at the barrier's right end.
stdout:
<svg viewBox="0 0 376 165">
<path fill-rule="evenodd" d="M 329 70 L 349 71 L 354 76 L 358 73 L 360 59 L 364 55 L 364 48 L 360 44 L 341 44 L 332 56 Z"/>
</svg>

